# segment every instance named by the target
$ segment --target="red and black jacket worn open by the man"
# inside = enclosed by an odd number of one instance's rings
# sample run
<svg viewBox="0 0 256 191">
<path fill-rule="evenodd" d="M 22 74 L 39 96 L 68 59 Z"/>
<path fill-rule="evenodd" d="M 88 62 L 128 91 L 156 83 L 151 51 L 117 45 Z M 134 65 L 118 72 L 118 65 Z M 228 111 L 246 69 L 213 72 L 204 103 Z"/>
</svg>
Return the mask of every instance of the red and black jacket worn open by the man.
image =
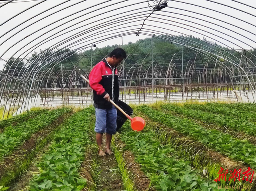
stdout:
<svg viewBox="0 0 256 191">
<path fill-rule="evenodd" d="M 114 69 L 114 102 L 119 100 L 119 84 L 117 69 Z M 111 109 L 112 103 L 103 97 L 108 93 L 112 99 L 112 69 L 106 62 L 106 59 L 96 64 L 89 74 L 90 86 L 93 89 L 94 106 L 100 109 Z"/>
</svg>

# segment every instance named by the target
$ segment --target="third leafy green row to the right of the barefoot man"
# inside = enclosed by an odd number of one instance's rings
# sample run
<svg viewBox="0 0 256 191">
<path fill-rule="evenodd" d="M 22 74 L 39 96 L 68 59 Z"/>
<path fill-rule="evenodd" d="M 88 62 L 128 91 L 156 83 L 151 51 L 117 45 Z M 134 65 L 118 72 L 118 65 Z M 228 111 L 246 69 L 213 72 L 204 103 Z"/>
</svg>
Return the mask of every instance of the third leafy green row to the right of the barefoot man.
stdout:
<svg viewBox="0 0 256 191">
<path fill-rule="evenodd" d="M 166 110 L 174 111 L 176 113 L 201 120 L 207 124 L 217 124 L 218 126 L 229 127 L 234 130 L 245 132 L 249 135 L 256 135 L 256 124 L 253 122 L 248 122 L 248 120 L 245 118 L 234 118 L 232 116 L 225 116 L 222 114 L 213 114 L 203 112 L 199 109 L 190 109 L 187 108 L 188 106 L 182 107 L 174 104 L 164 104 L 161 107 Z"/>
</svg>

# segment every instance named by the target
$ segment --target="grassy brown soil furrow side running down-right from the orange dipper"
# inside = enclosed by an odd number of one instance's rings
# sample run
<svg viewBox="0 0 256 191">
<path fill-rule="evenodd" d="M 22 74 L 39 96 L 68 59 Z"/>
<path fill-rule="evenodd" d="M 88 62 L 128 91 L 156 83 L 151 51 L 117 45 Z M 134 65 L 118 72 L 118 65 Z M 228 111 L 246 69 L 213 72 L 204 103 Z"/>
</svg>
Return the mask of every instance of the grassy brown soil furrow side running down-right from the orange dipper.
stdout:
<svg viewBox="0 0 256 191">
<path fill-rule="evenodd" d="M 159 122 L 150 120 L 150 118 L 141 112 L 136 111 L 136 116 L 144 118 L 147 122 L 147 126 L 149 126 L 147 129 L 154 132 L 163 144 L 170 144 L 170 146 L 176 150 L 179 158 L 191 161 L 192 165 L 202 172 L 202 176 L 204 176 L 204 168 L 208 170 L 206 176 L 209 176 L 211 179 L 216 179 L 218 177 L 217 172 L 220 170 L 220 167 L 224 170 L 228 169 L 232 171 L 234 168 L 241 169 L 241 172 L 248 169 L 248 166 L 244 163 L 234 161 L 219 152 L 210 150 L 197 140 L 193 140 L 191 137 L 185 136 L 171 127 L 166 127 Z M 227 177 L 229 177 L 229 173 L 227 174 Z M 252 190 L 256 187 L 255 180 L 256 175 L 254 173 Z"/>
</svg>

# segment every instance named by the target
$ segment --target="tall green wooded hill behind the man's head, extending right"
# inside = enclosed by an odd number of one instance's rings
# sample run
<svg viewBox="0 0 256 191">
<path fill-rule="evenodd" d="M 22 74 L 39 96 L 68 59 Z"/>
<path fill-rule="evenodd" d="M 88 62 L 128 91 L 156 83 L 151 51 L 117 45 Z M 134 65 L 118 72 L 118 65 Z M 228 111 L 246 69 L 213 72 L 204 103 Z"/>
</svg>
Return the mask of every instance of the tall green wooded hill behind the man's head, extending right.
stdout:
<svg viewBox="0 0 256 191">
<path fill-rule="evenodd" d="M 168 40 L 170 39 L 170 40 Z M 234 51 L 232 49 L 228 49 L 228 47 L 222 47 L 218 45 L 217 43 L 214 43 L 212 41 L 208 41 L 206 38 L 203 37 L 203 39 L 199 39 L 192 36 L 168 36 L 168 35 L 159 35 L 153 37 L 153 57 L 156 59 L 156 61 L 160 64 L 168 64 L 170 63 L 174 53 L 177 53 L 177 55 L 174 57 L 174 59 L 181 59 L 181 45 L 174 43 L 174 41 L 178 41 L 179 43 L 185 43 L 189 45 L 190 47 L 205 49 L 211 52 L 214 52 L 214 54 L 218 54 L 220 51 L 224 55 L 228 57 L 229 60 L 237 61 L 241 57 L 241 53 Z M 188 43 L 190 42 L 190 43 Z M 112 46 L 106 46 L 102 48 L 96 48 L 92 50 L 92 63 L 95 65 L 101 59 L 108 55 L 114 48 L 120 47 L 120 45 L 115 44 Z M 142 63 L 142 61 L 145 59 L 146 55 L 151 54 L 151 38 L 145 38 L 140 39 L 136 41 L 135 43 L 129 42 L 126 45 L 123 45 L 124 50 L 126 53 L 132 54 L 132 57 L 129 57 L 126 60 L 126 64 L 134 64 L 134 60 L 136 60 L 138 63 Z M 191 48 L 188 48 L 186 46 L 183 47 L 183 59 L 184 63 L 188 62 L 194 62 L 194 59 L 196 57 L 197 52 L 194 51 Z M 256 49 L 250 50 L 251 53 L 256 55 Z M 250 54 L 250 53 L 248 53 Z M 88 55 L 88 57 L 83 55 Z M 78 56 L 80 58 L 80 61 L 78 62 L 79 67 L 90 67 L 91 61 L 90 61 L 90 49 L 86 50 L 84 52 L 78 53 Z M 100 56 L 96 56 L 100 55 Z M 247 57 L 250 57 L 252 55 L 247 55 Z M 81 58 L 82 57 L 82 58 Z M 200 55 L 200 59 L 202 57 L 202 61 L 206 63 L 208 58 L 204 56 L 203 54 Z M 211 55 L 211 58 L 216 58 L 215 55 Z M 198 58 L 198 57 L 197 57 Z M 219 58 L 219 61 L 224 61 L 223 59 Z M 151 63 L 151 56 L 146 57 L 144 60 L 144 65 L 150 65 Z M 250 65 L 249 65 L 250 66 Z M 200 67 L 200 66 L 198 66 Z"/>
</svg>

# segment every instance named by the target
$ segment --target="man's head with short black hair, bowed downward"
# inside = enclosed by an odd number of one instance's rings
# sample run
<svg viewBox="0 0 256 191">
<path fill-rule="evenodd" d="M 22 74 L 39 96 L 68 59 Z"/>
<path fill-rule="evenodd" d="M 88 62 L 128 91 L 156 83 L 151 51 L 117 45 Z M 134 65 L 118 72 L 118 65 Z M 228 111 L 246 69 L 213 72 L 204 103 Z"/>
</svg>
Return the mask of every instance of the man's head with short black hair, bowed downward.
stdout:
<svg viewBox="0 0 256 191">
<path fill-rule="evenodd" d="M 124 58 L 126 58 L 126 52 L 124 49 L 116 48 L 109 54 L 107 61 L 111 66 L 116 67 L 122 62 Z"/>
</svg>

